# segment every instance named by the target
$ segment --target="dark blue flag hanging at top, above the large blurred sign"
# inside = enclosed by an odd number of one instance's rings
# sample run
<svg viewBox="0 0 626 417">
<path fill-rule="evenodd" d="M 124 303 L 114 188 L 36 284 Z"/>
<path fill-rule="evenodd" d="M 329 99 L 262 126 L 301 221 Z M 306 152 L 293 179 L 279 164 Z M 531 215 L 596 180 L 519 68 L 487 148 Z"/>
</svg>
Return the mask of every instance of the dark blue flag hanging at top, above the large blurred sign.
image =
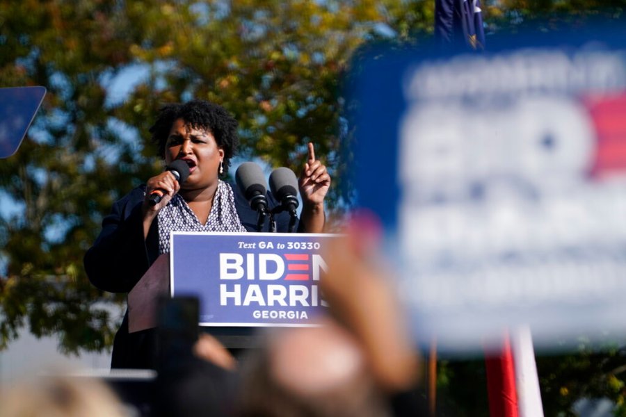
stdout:
<svg viewBox="0 0 626 417">
<path fill-rule="evenodd" d="M 485 49 L 480 0 L 435 0 L 435 39 L 443 49 Z"/>
</svg>

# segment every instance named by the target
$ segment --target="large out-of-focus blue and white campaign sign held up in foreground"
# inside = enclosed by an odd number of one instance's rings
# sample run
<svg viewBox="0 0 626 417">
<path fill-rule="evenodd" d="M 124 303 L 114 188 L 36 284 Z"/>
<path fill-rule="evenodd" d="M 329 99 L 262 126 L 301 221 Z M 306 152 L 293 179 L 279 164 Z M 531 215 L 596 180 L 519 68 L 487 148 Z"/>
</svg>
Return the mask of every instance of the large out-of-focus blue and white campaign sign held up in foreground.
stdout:
<svg viewBox="0 0 626 417">
<path fill-rule="evenodd" d="M 355 65 L 357 203 L 441 350 L 626 334 L 625 31 L 533 36 Z"/>
</svg>

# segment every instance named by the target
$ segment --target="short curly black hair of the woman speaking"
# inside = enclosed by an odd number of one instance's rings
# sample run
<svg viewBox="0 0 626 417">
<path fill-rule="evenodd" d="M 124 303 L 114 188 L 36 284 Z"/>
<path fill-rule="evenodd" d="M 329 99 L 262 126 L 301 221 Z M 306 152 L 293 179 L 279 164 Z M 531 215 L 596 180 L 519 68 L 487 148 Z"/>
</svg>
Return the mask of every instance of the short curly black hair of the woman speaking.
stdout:
<svg viewBox="0 0 626 417">
<path fill-rule="evenodd" d="M 166 104 L 159 109 L 157 121 L 150 128 L 152 141 L 159 147 L 159 155 L 165 158 L 166 141 L 172 124 L 184 120 L 193 129 L 206 129 L 213 133 L 218 147 L 224 151 L 224 175 L 228 173 L 230 158 L 239 145 L 237 121 L 222 106 L 204 100 L 191 100 L 186 103 Z"/>
</svg>

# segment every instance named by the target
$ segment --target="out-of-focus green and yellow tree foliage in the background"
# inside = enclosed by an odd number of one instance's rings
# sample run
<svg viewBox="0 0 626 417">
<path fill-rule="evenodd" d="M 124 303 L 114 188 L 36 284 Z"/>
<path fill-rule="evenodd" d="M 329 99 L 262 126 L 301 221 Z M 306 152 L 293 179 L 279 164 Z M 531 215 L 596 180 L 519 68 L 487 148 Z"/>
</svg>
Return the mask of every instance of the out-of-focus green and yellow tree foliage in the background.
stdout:
<svg viewBox="0 0 626 417">
<path fill-rule="evenodd" d="M 483 10 L 492 35 L 545 17 L 545 30 L 621 17 L 625 6 L 491 0 Z M 0 349 L 24 326 L 60 336 L 67 353 L 110 347 L 121 318 L 109 306 L 123 295 L 93 288 L 82 258 L 113 201 L 162 169 L 147 131 L 162 104 L 225 106 L 240 122 L 241 156 L 273 166 L 299 170 L 312 140 L 337 185 L 353 54 L 372 40 L 422 42 L 433 15 L 434 0 L 1 1 L 0 86 L 48 92 L 22 147 L 0 161 Z M 330 209 L 342 202 L 332 189 Z M 442 384 L 455 372 L 444 367 Z M 621 389 L 621 375 L 602 372 L 588 375 Z"/>
</svg>

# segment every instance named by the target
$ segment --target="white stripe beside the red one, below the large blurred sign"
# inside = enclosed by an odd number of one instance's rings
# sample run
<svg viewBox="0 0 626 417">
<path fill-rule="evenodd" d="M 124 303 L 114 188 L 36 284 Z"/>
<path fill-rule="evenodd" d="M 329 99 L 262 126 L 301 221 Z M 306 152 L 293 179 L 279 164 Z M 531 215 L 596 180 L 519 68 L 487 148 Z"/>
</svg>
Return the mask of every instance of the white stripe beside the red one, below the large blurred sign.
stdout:
<svg viewBox="0 0 626 417">
<path fill-rule="evenodd" d="M 515 385 L 520 417 L 543 417 L 539 377 L 530 327 L 516 329 L 511 335 L 511 350 L 515 363 Z"/>
</svg>

